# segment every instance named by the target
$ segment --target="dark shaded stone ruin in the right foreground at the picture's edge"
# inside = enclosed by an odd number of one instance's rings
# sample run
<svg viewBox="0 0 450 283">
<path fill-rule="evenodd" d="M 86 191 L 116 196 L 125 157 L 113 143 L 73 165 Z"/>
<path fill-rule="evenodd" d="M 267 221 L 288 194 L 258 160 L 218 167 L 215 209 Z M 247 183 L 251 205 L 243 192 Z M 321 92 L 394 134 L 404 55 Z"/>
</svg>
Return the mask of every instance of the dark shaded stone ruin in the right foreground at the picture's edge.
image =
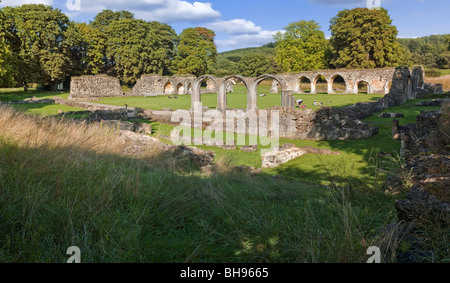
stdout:
<svg viewBox="0 0 450 283">
<path fill-rule="evenodd" d="M 408 248 L 398 249 L 383 241 L 379 246 L 385 254 L 396 255 L 399 263 L 432 262 L 432 251 L 423 243 L 423 229 L 429 223 L 441 229 L 450 224 L 449 103 L 446 101 L 441 110 L 422 111 L 415 124 L 398 126 L 394 120 L 393 138 L 402 141 L 402 171 L 408 174 L 412 187 L 395 202 L 397 222 L 386 227 L 382 236 L 397 235 L 397 241 L 407 242 Z M 402 173 L 394 172 L 386 181 L 386 189 L 398 193 L 404 182 Z"/>
</svg>

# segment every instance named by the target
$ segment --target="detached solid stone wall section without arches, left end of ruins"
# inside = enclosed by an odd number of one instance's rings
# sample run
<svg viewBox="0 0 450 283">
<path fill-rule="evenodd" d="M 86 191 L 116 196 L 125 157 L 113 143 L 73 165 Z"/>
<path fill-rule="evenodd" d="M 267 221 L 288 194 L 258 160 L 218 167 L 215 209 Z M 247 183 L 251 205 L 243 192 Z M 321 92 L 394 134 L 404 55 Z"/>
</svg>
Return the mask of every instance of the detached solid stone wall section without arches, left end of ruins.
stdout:
<svg viewBox="0 0 450 283">
<path fill-rule="evenodd" d="M 123 96 L 120 81 L 106 75 L 72 77 L 70 82 L 71 99 L 91 97 Z"/>
</svg>

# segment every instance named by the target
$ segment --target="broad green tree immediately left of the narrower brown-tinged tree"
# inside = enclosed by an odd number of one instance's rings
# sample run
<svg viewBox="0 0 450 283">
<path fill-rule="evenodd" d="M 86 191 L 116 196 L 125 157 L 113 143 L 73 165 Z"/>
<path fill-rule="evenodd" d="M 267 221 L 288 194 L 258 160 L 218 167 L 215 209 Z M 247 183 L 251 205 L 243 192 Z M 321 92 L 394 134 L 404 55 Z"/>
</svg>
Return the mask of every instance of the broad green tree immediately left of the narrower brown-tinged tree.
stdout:
<svg viewBox="0 0 450 283">
<path fill-rule="evenodd" d="M 132 84 L 143 74 L 167 75 L 177 39 L 166 24 L 121 19 L 105 28 L 106 57 L 115 74 Z"/>
</svg>

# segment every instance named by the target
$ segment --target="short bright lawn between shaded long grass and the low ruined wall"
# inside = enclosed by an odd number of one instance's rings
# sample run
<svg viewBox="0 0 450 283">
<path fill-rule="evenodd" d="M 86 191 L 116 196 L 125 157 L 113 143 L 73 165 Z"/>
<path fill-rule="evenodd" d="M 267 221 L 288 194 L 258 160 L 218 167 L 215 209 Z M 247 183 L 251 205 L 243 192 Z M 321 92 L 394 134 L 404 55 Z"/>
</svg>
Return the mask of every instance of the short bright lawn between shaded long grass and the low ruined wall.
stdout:
<svg viewBox="0 0 450 283">
<path fill-rule="evenodd" d="M 414 123 L 416 116 L 422 110 L 436 110 L 439 107 L 417 107 L 416 103 L 424 100 L 413 100 L 403 106 L 394 107 L 385 111 L 400 112 L 405 115 L 400 118 L 400 124 Z M 383 112 L 385 112 L 383 111 Z M 341 155 L 317 155 L 308 154 L 292 160 L 275 169 L 266 169 L 270 175 L 283 175 L 293 179 L 299 179 L 311 183 L 329 184 L 330 179 L 336 183 L 348 183 L 349 180 L 357 186 L 370 186 L 371 182 L 378 182 L 383 176 L 376 174 L 380 170 L 389 170 L 398 160 L 400 142 L 391 137 L 391 124 L 393 119 L 378 118 L 379 113 L 374 114 L 365 121 L 380 128 L 380 133 L 363 140 L 354 141 L 307 141 L 280 139 L 280 145 L 292 143 L 299 147 L 309 146 L 314 148 L 331 149 L 341 152 Z M 151 122 L 152 123 L 152 122 Z M 153 123 L 156 137 L 170 137 L 173 126 Z M 237 135 L 236 135 L 237 136 Z M 249 137 L 246 137 L 247 141 Z M 217 147 L 198 146 L 212 150 L 216 153 L 216 160 L 223 160 L 232 166 L 247 165 L 256 168 L 261 167 L 261 148 L 268 148 L 259 144 L 258 152 L 247 153 L 240 150 L 225 150 Z M 270 147 L 270 146 L 269 146 Z M 377 158 L 378 152 L 388 152 L 393 155 L 392 160 Z M 381 179 L 377 179 L 381 177 Z M 373 184 L 375 185 L 375 184 Z"/>
</svg>

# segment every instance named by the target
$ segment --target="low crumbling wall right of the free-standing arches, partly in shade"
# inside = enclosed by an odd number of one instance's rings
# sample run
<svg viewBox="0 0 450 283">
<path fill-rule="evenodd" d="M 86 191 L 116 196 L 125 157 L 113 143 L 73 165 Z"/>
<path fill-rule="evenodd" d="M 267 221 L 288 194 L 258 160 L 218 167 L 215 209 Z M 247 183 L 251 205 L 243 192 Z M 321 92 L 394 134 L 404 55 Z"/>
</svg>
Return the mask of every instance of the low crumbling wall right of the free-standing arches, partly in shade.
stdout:
<svg viewBox="0 0 450 283">
<path fill-rule="evenodd" d="M 350 71 L 349 71 L 350 72 Z M 391 70 L 381 70 L 387 76 Z M 379 75 L 381 74 L 379 73 Z M 353 73 L 354 76 L 356 74 Z M 258 121 L 259 127 L 270 132 L 271 111 L 279 111 L 279 135 L 281 138 L 302 140 L 356 140 L 378 133 L 378 128 L 362 122 L 363 119 L 384 109 L 399 106 L 410 99 L 416 99 L 427 93 L 422 67 L 399 67 L 391 74 L 392 87 L 386 96 L 377 102 L 357 103 L 344 108 L 323 107 L 317 111 L 294 109 L 293 107 L 273 107 L 267 109 L 267 119 Z M 387 80 L 387 79 L 385 79 Z M 262 110 L 256 110 L 259 116 Z M 191 117 L 193 120 L 193 117 Z M 263 124 L 266 123 L 266 124 Z M 195 125 L 184 125 L 194 127 Z M 203 124 L 203 127 L 210 126 Z M 248 128 L 245 134 L 250 134 Z"/>
</svg>

